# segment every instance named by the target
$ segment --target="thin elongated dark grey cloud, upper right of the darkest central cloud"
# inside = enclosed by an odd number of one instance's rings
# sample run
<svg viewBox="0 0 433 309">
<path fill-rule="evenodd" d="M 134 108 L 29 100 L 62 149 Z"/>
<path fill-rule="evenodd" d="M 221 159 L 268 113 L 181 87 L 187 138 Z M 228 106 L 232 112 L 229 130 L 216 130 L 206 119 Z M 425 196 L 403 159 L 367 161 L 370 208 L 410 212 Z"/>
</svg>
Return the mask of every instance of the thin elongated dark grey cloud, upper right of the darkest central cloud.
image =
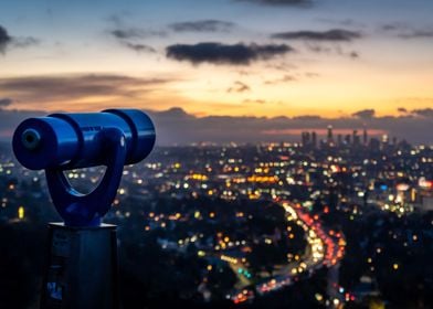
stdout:
<svg viewBox="0 0 433 309">
<path fill-rule="evenodd" d="M 306 40 L 306 41 L 331 41 L 331 42 L 350 42 L 355 39 L 362 38 L 358 31 L 345 29 L 331 29 L 328 31 L 288 31 L 271 35 L 273 39 L 282 40 Z"/>
</svg>

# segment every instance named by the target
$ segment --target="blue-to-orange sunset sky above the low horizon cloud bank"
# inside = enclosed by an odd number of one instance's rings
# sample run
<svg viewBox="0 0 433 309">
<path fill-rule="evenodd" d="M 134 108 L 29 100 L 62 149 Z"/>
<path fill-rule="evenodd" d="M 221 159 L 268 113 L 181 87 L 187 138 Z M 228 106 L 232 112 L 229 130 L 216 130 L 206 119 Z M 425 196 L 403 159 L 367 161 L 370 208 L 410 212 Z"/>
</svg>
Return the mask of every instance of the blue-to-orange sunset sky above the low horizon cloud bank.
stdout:
<svg viewBox="0 0 433 309">
<path fill-rule="evenodd" d="M 430 117 L 432 15 L 431 0 L 2 0 L 0 108 Z"/>
</svg>

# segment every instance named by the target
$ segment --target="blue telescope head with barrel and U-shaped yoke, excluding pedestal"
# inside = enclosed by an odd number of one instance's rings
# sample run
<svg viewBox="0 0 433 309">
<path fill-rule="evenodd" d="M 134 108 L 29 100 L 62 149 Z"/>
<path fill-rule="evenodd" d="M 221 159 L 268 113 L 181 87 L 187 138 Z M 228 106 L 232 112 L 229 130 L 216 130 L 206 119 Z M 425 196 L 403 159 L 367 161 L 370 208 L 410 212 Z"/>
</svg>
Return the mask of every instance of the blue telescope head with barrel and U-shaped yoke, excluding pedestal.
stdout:
<svg viewBox="0 0 433 309">
<path fill-rule="evenodd" d="M 53 114 L 29 118 L 13 135 L 13 152 L 25 168 L 45 170 L 53 203 L 66 225 L 95 226 L 109 210 L 125 164 L 145 159 L 155 145 L 155 126 L 138 109 Z M 106 166 L 89 194 L 75 191 L 64 170 Z"/>
</svg>

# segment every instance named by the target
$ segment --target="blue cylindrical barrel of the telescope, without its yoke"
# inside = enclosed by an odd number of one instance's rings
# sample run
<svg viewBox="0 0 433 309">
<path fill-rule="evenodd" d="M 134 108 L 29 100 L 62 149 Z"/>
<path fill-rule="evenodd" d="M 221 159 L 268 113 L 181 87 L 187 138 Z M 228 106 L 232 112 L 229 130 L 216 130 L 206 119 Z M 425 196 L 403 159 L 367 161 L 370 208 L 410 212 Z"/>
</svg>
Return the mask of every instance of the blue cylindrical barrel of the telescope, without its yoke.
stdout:
<svg viewBox="0 0 433 309">
<path fill-rule="evenodd" d="M 126 161 L 145 159 L 155 145 L 155 126 L 138 109 L 107 109 L 89 114 L 53 114 L 29 118 L 13 135 L 13 151 L 21 164 L 31 170 L 76 169 L 105 163 L 101 132 L 116 128 L 125 136 Z"/>
</svg>

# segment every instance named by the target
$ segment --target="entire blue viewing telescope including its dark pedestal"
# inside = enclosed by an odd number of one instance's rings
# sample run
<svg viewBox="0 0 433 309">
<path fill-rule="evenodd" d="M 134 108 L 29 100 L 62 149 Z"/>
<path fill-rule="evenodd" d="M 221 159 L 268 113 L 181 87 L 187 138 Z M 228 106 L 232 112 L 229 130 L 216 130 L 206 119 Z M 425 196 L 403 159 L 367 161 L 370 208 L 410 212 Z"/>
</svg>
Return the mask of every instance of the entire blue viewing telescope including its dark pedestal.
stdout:
<svg viewBox="0 0 433 309">
<path fill-rule="evenodd" d="M 13 152 L 25 168 L 45 170 L 53 204 L 64 224 L 50 224 L 50 266 L 41 308 L 117 308 L 115 226 L 102 224 L 125 164 L 145 159 L 155 127 L 138 109 L 53 114 L 29 118 L 13 135 Z M 72 188 L 65 170 L 106 166 L 88 194 Z M 112 284 L 109 284 L 112 283 Z"/>
</svg>

